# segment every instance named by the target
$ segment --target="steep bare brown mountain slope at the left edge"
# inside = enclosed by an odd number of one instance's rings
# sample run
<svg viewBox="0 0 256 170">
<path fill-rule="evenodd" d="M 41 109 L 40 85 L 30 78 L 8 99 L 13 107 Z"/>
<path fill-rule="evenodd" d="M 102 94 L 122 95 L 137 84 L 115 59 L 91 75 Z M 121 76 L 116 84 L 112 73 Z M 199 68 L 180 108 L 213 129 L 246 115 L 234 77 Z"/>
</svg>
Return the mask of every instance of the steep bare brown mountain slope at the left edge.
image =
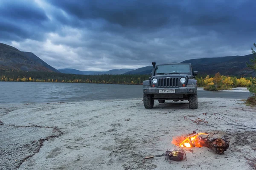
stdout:
<svg viewBox="0 0 256 170">
<path fill-rule="evenodd" d="M 31 52 L 0 43 L 0 70 L 58 72 Z"/>
</svg>

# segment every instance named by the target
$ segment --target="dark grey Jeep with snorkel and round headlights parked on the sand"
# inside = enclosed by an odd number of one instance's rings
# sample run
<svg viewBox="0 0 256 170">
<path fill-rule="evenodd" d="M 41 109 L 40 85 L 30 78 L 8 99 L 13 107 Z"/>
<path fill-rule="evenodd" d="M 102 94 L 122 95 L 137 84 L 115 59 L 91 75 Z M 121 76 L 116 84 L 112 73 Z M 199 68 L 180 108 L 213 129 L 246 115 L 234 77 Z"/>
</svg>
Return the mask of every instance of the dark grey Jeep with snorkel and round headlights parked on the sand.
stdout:
<svg viewBox="0 0 256 170">
<path fill-rule="evenodd" d="M 156 65 L 149 80 L 143 81 L 144 107 L 154 107 L 154 100 L 164 103 L 165 100 L 189 101 L 190 109 L 198 108 L 197 80 L 198 71 L 193 71 L 191 63 L 170 63 Z"/>
</svg>

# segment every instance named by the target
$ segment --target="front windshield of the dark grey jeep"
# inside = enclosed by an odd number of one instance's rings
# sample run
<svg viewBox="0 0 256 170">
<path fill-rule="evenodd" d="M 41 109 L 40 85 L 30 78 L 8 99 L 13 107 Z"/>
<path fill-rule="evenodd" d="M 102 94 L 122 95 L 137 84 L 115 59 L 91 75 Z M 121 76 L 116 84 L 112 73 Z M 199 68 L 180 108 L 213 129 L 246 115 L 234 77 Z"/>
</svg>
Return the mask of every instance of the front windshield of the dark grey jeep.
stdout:
<svg viewBox="0 0 256 170">
<path fill-rule="evenodd" d="M 155 74 L 190 74 L 189 64 L 157 65 Z"/>
</svg>

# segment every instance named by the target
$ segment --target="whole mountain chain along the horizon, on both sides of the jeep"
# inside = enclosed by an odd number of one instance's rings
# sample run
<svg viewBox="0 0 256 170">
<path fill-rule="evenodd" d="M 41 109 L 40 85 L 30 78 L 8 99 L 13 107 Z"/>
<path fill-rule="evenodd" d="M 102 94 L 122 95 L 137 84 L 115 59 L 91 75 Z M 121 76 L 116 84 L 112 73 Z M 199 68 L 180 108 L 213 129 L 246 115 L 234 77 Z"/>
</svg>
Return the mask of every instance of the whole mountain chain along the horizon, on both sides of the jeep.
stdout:
<svg viewBox="0 0 256 170">
<path fill-rule="evenodd" d="M 183 62 L 190 62 L 193 69 L 204 75 L 214 75 L 220 72 L 227 76 L 256 76 L 256 71 L 247 68 L 246 63 L 250 63 L 253 54 L 244 56 L 226 56 L 213 58 L 188 59 Z M 181 62 L 182 63 L 182 62 Z M 112 69 L 109 71 L 79 71 L 72 68 L 55 69 L 48 65 L 42 59 L 32 52 L 20 51 L 15 47 L 0 43 L 0 70 L 16 70 L 16 71 L 46 71 L 65 74 L 150 74 L 152 66 L 145 66 L 137 69 Z"/>
</svg>

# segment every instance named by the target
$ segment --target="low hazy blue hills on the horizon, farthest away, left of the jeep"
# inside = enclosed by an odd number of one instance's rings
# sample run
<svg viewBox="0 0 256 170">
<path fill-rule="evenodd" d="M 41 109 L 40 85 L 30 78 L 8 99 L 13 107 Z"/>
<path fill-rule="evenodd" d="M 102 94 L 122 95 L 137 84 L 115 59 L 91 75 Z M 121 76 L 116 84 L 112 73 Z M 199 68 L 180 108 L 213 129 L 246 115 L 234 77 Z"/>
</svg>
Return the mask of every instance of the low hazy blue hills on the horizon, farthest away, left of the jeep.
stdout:
<svg viewBox="0 0 256 170">
<path fill-rule="evenodd" d="M 64 69 L 58 69 L 61 73 L 65 74 L 84 74 L 84 75 L 98 75 L 98 74 L 123 74 L 127 71 L 131 71 L 133 69 L 113 69 L 109 71 L 80 71 L 72 68 L 64 68 Z"/>
</svg>

